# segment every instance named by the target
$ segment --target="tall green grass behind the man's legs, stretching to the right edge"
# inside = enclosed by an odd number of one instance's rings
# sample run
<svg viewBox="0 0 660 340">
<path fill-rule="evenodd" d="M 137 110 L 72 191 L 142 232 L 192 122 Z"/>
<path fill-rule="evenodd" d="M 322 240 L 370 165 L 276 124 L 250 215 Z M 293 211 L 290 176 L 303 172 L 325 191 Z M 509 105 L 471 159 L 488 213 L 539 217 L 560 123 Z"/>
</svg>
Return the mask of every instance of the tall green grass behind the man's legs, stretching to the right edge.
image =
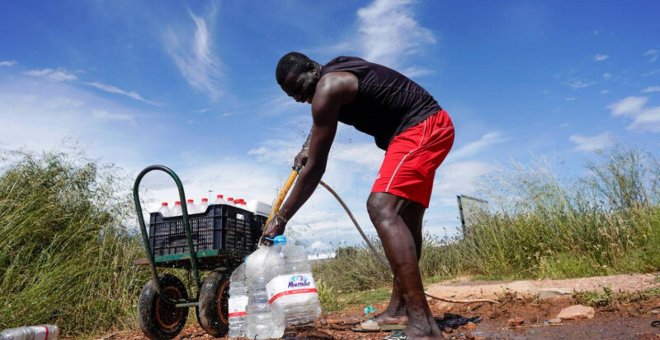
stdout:
<svg viewBox="0 0 660 340">
<path fill-rule="evenodd" d="M 502 168 L 483 186 L 491 210 L 464 238 L 424 236 L 426 282 L 571 278 L 660 269 L 660 163 L 614 148 L 584 175 L 558 178 L 547 163 Z M 378 243 L 377 243 L 378 244 Z M 391 282 L 365 246 L 341 247 L 315 275 L 345 292 Z"/>
</svg>

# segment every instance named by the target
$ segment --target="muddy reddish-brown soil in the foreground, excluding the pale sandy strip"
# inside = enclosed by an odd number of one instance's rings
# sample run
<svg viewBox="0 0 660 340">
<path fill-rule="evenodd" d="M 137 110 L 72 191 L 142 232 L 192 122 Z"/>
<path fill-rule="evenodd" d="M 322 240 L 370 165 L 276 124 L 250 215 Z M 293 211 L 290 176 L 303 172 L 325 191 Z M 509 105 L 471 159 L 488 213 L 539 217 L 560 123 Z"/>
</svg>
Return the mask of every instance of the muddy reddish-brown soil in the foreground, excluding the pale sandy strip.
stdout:
<svg viewBox="0 0 660 340">
<path fill-rule="evenodd" d="M 488 303 L 455 304 L 429 301 L 434 315 L 460 314 L 466 317 L 479 316 L 481 322 L 456 329 L 445 329 L 445 339 L 660 339 L 660 328 L 651 323 L 660 320 L 660 297 L 625 305 L 596 308 L 596 317 L 591 320 L 563 321 L 551 324 L 559 311 L 572 305 L 569 297 L 545 300 L 523 299 L 511 295 L 497 305 Z M 383 310 L 385 304 L 374 307 Z M 521 318 L 523 323 L 512 326 L 511 319 Z M 352 325 L 364 320 L 358 308 L 339 313 L 327 313 L 313 327 L 287 329 L 285 339 L 382 339 L 388 333 L 357 333 Z M 194 319 L 192 320 L 194 322 Z M 211 336 L 197 325 L 188 326 L 177 339 L 210 339 Z M 146 339 L 138 332 L 119 332 L 103 339 Z"/>
</svg>

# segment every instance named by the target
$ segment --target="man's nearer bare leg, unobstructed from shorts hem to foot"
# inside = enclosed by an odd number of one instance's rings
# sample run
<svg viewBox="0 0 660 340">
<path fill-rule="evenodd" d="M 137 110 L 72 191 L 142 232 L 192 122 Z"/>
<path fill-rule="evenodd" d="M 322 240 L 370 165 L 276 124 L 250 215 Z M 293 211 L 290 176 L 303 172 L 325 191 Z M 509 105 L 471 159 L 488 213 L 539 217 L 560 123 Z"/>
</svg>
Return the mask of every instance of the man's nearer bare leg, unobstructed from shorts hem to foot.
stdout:
<svg viewBox="0 0 660 340">
<path fill-rule="evenodd" d="M 409 202 L 392 194 L 372 192 L 367 201 L 367 209 L 383 243 L 390 267 L 400 284 L 400 296 L 408 317 L 405 333 L 412 337 L 441 336 L 424 295 L 417 264 L 418 247 L 413 232 L 401 216 Z"/>
</svg>

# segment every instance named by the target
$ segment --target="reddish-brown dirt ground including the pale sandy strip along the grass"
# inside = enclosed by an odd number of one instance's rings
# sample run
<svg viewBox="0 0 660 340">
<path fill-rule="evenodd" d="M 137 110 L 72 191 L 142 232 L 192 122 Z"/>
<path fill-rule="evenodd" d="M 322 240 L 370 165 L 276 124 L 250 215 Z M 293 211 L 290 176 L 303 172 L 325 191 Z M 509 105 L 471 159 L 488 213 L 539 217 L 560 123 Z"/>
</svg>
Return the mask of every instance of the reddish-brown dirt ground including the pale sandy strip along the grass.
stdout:
<svg viewBox="0 0 660 340">
<path fill-rule="evenodd" d="M 481 318 L 476 324 L 467 324 L 454 329 L 445 328 L 443 332 L 445 339 L 660 339 L 660 328 L 652 326 L 653 321 L 660 320 L 660 296 L 640 302 L 612 303 L 606 307 L 596 307 L 595 318 L 590 320 L 550 323 L 549 320 L 555 318 L 562 308 L 575 302 L 563 293 L 550 294 L 546 298 L 539 298 L 538 293 L 538 289 L 546 288 L 559 292 L 567 289 L 602 291 L 602 287 L 608 287 L 616 292 L 638 291 L 659 286 L 657 277 L 657 274 L 617 275 L 577 280 L 525 281 L 536 287 L 537 290 L 533 290 L 532 294 L 521 293 L 529 292 L 531 286 L 528 284 L 447 282 L 429 286 L 428 292 L 454 299 L 497 298 L 500 302 L 451 304 L 430 299 L 429 304 L 436 318 L 442 318 L 444 313 Z M 489 294 L 493 285 L 504 285 L 509 288 L 493 289 L 494 295 L 491 296 Z M 442 287 L 447 289 L 443 290 Z M 450 287 L 469 287 L 469 289 L 452 292 Z M 382 311 L 385 303 L 374 304 L 373 307 Z M 382 339 L 387 335 L 385 332 L 351 331 L 353 324 L 364 319 L 361 306 L 355 306 L 342 312 L 324 314 L 313 327 L 287 329 L 284 338 L 366 340 Z M 515 319 L 518 319 L 517 322 L 513 321 Z M 205 334 L 199 326 L 191 324 L 177 339 L 209 338 L 211 336 Z M 139 332 L 118 332 L 103 339 L 145 338 Z"/>
</svg>

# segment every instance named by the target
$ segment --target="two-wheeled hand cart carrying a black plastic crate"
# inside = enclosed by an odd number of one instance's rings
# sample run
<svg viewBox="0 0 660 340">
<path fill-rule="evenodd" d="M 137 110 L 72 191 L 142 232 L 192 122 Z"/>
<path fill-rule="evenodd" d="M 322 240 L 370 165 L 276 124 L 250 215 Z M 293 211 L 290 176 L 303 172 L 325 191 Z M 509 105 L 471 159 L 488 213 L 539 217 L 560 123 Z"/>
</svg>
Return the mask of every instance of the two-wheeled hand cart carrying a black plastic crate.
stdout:
<svg viewBox="0 0 660 340">
<path fill-rule="evenodd" d="M 152 276 L 140 293 L 140 328 L 151 339 L 174 338 L 185 327 L 188 308 L 194 307 L 197 321 L 208 334 L 224 336 L 229 328 L 229 277 L 243 258 L 257 248 L 267 218 L 224 204 L 210 205 L 205 212 L 189 215 L 182 204 L 181 216 L 150 213 L 147 232 L 138 191 L 142 178 L 154 170 L 170 175 L 180 201 L 186 202 L 181 180 L 168 167 L 149 166 L 135 180 L 133 200 L 147 254 L 136 264 L 149 265 Z M 187 289 L 174 274 L 159 275 L 158 268 L 184 269 L 188 277 L 192 272 L 194 289 Z M 209 272 L 203 280 L 200 271 Z M 195 297 L 190 298 L 191 295 Z"/>
</svg>

